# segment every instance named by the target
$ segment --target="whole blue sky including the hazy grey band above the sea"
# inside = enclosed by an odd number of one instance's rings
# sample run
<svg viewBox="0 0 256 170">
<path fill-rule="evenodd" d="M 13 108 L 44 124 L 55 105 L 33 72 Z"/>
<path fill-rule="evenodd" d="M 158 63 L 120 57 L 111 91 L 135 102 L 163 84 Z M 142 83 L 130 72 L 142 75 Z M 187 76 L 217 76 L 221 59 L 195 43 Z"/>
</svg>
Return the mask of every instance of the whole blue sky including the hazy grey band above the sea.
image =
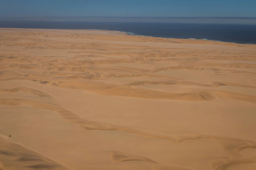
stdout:
<svg viewBox="0 0 256 170">
<path fill-rule="evenodd" d="M 1 0 L 0 21 L 256 24 L 255 0 Z"/>
</svg>

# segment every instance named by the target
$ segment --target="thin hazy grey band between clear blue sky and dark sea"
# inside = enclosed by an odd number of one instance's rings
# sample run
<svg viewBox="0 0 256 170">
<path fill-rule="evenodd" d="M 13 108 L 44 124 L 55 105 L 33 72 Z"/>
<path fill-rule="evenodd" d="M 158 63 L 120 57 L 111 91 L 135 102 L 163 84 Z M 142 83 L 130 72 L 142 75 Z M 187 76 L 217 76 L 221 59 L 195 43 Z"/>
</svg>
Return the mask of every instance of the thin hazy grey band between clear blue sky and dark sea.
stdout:
<svg viewBox="0 0 256 170">
<path fill-rule="evenodd" d="M 0 17 L 0 21 L 256 24 L 256 17 Z"/>
</svg>

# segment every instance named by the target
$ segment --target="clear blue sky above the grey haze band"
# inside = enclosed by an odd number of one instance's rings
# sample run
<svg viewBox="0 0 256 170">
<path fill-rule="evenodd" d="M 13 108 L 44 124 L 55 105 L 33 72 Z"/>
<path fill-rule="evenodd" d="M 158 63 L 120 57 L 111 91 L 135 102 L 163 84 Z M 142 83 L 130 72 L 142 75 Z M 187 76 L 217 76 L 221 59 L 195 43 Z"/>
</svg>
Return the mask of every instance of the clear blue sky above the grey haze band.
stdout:
<svg viewBox="0 0 256 170">
<path fill-rule="evenodd" d="M 0 17 L 256 17 L 256 0 L 0 0 Z"/>
</svg>

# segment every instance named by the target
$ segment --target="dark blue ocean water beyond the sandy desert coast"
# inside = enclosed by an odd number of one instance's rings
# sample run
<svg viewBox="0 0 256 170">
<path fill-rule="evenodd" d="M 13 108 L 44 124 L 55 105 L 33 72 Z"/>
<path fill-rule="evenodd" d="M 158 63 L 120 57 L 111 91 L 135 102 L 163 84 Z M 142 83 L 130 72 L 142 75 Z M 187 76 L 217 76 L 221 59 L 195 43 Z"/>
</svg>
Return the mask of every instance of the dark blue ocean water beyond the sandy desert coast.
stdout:
<svg viewBox="0 0 256 170">
<path fill-rule="evenodd" d="M 185 39 L 195 38 L 242 44 L 256 44 L 256 25 L 137 22 L 0 21 L 0 27 L 115 30 L 124 31 L 132 35 Z"/>
</svg>

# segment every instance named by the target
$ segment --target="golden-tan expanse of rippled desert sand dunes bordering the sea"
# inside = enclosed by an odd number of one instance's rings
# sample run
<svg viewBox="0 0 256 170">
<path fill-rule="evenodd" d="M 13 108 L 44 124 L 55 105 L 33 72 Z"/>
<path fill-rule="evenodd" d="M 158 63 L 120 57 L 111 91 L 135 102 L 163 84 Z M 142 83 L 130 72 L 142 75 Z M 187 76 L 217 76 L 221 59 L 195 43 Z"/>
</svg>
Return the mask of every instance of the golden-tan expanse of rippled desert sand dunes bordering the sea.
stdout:
<svg viewBox="0 0 256 170">
<path fill-rule="evenodd" d="M 255 170 L 256 45 L 0 28 L 1 170 Z"/>
</svg>

